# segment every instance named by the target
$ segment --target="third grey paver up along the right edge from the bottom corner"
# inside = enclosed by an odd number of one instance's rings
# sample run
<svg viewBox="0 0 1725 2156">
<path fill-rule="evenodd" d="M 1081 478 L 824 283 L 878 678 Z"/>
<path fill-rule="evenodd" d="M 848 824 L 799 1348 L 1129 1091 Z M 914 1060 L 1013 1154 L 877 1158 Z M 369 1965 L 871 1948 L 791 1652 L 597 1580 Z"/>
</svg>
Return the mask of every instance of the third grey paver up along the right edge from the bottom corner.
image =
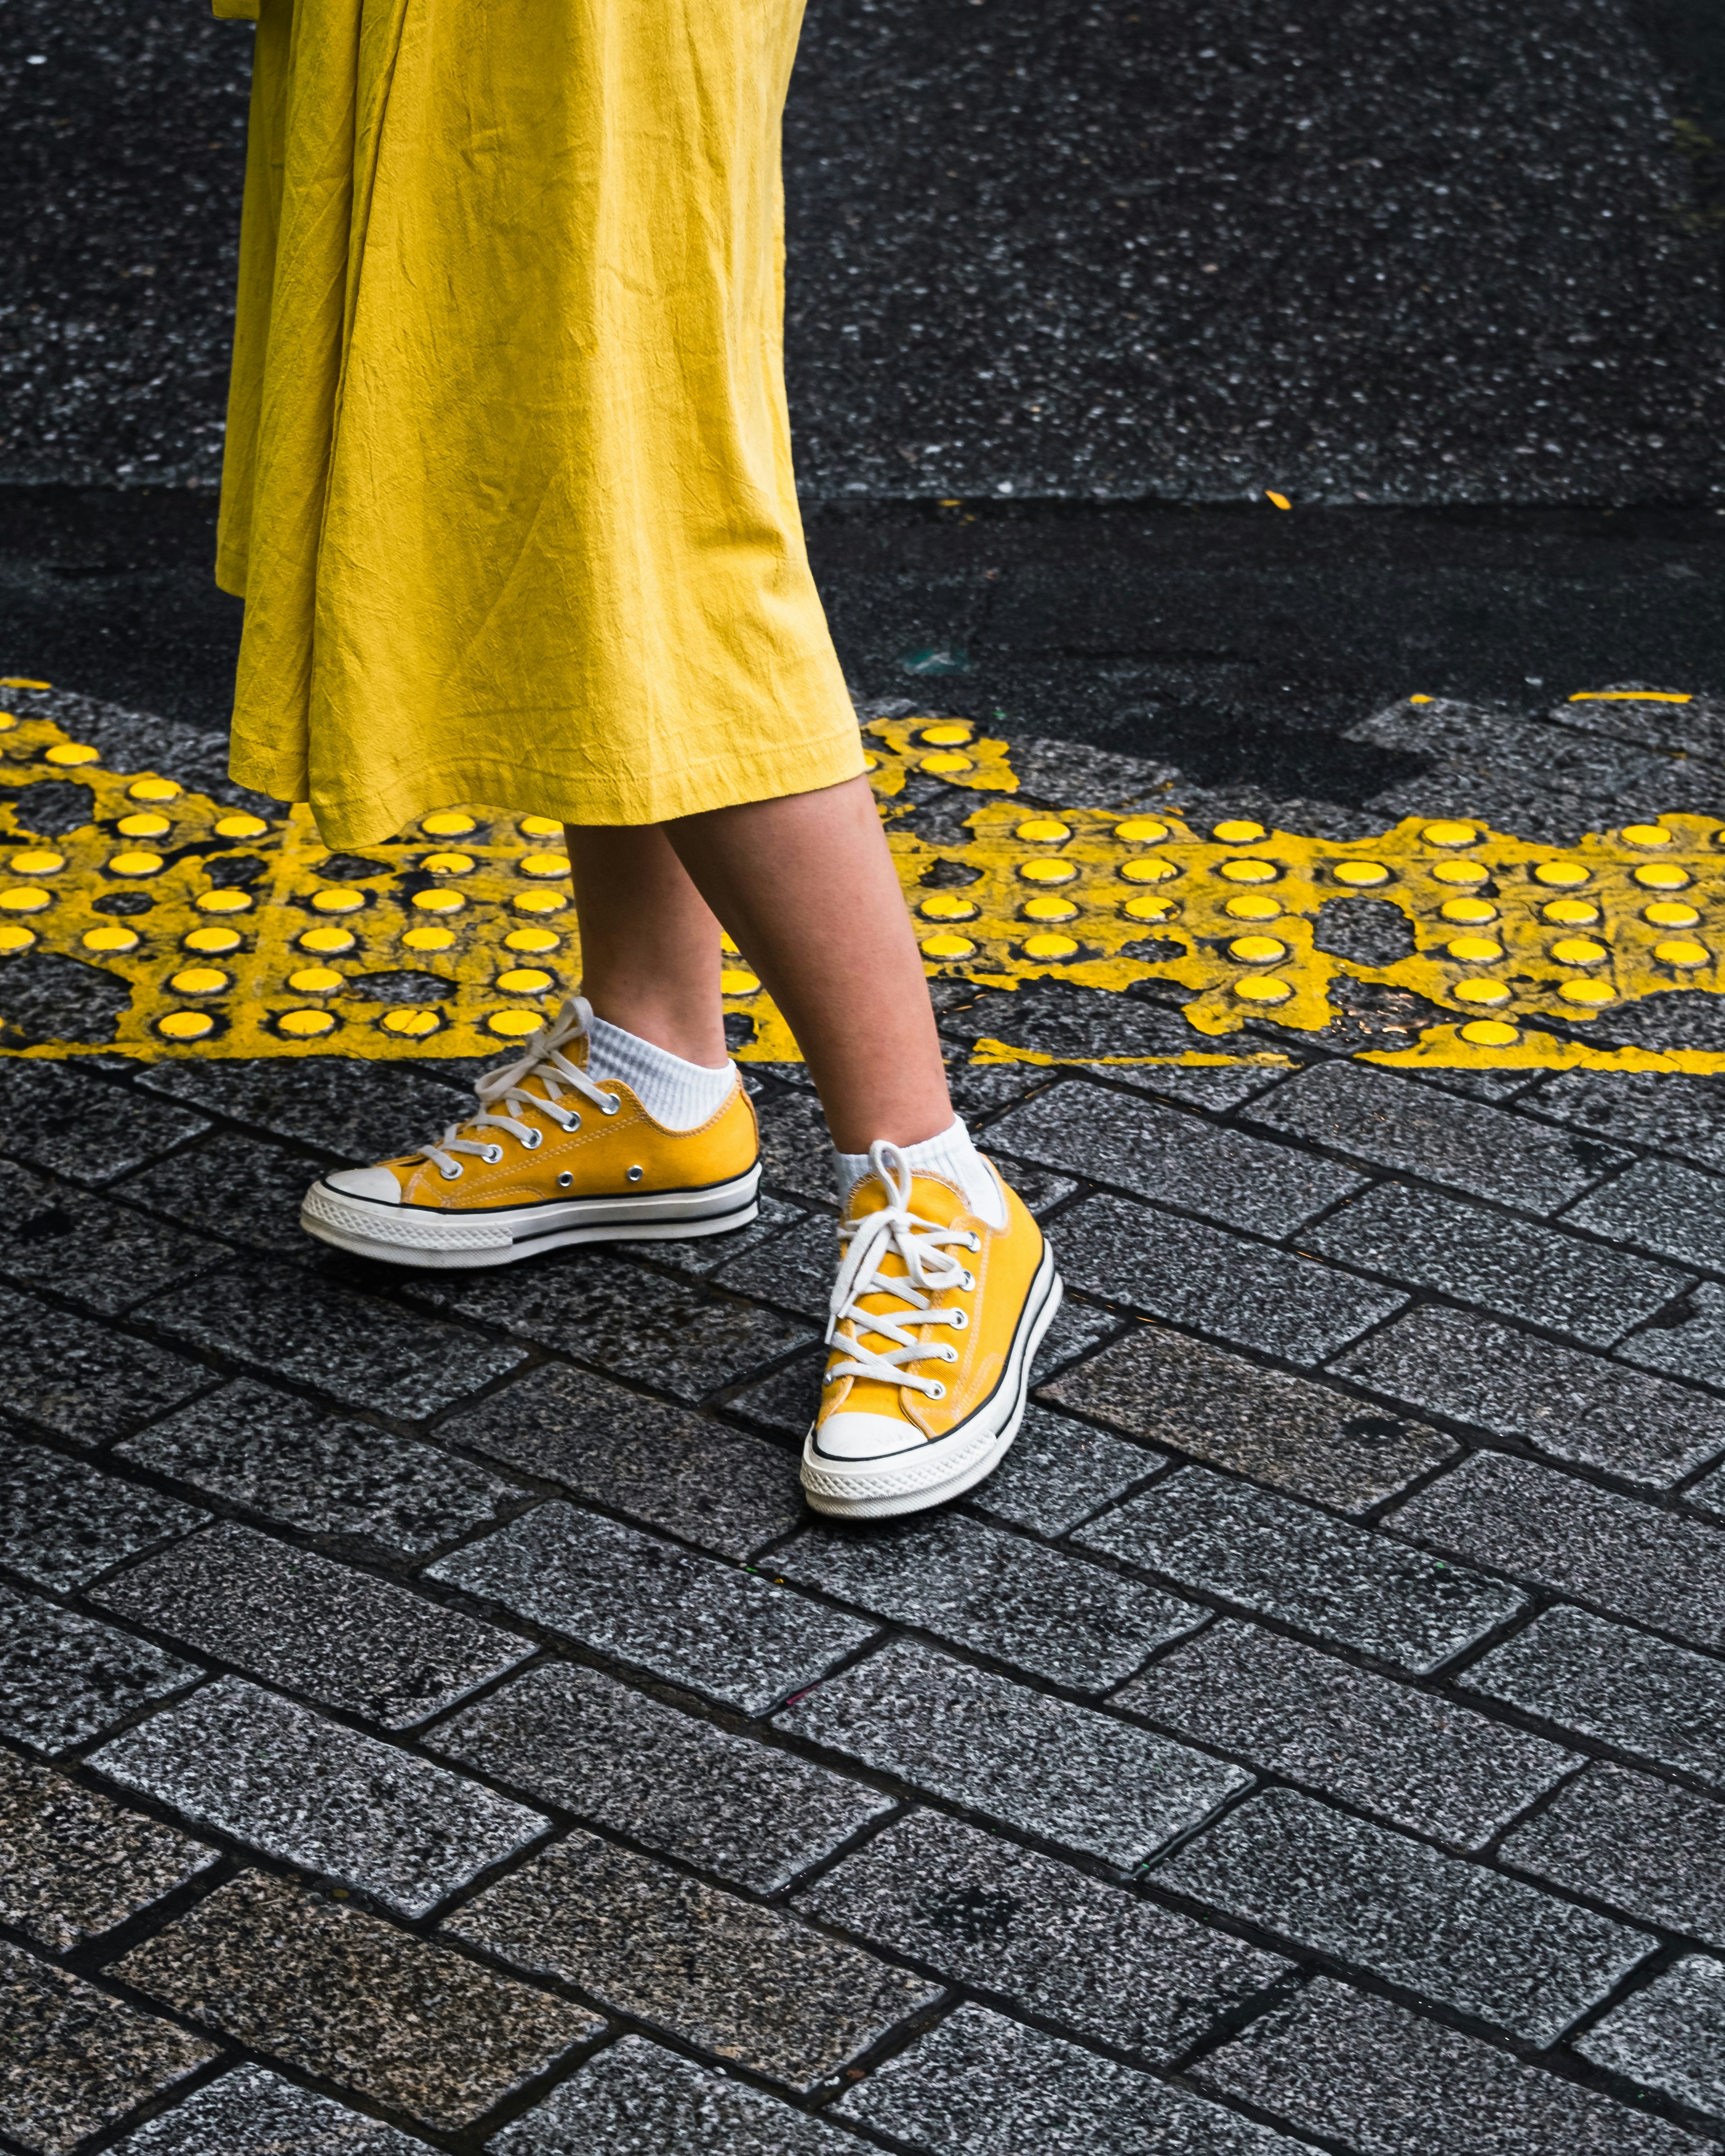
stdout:
<svg viewBox="0 0 1725 2156">
<path fill-rule="evenodd" d="M 1468 1690 L 1725 1789 L 1725 1667 L 1587 1611 L 1546 1611 Z"/>
</svg>

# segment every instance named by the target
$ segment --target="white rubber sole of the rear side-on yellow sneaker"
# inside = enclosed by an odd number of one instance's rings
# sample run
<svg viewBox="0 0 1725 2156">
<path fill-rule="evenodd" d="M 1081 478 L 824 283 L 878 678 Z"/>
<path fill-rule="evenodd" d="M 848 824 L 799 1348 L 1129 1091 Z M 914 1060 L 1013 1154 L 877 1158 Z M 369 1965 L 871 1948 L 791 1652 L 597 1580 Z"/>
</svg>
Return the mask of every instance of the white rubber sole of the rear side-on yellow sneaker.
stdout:
<svg viewBox="0 0 1725 2156">
<path fill-rule="evenodd" d="M 684 1242 L 729 1235 L 759 1214 L 761 1169 L 705 1190 L 632 1192 L 608 1199 L 546 1199 L 498 1212 L 431 1212 L 425 1205 L 380 1205 L 328 1184 L 313 1184 L 300 1227 L 336 1250 L 377 1257 L 386 1266 L 468 1270 L 513 1266 L 569 1242 Z"/>
</svg>

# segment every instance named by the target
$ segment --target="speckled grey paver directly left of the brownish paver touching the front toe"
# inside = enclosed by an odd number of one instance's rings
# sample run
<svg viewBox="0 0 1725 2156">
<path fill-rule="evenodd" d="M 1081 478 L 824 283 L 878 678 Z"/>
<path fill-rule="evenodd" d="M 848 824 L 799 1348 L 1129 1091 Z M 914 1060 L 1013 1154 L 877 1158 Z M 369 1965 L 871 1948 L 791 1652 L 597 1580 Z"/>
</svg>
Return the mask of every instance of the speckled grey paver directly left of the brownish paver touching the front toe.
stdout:
<svg viewBox="0 0 1725 2156">
<path fill-rule="evenodd" d="M 116 1447 L 121 1460 L 308 1535 L 420 1557 L 526 1492 L 446 1451 L 239 1378 Z"/>
</svg>

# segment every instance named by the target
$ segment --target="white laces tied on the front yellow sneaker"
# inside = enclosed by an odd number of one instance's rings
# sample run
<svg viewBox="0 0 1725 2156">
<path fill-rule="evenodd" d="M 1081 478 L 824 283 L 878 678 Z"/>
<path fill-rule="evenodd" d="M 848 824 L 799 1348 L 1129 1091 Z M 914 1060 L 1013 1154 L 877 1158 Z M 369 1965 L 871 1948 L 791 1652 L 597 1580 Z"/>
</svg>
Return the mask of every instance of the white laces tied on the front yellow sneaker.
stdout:
<svg viewBox="0 0 1725 2156">
<path fill-rule="evenodd" d="M 880 1177 L 888 1203 L 880 1212 L 862 1214 L 860 1220 L 845 1220 L 839 1227 L 850 1246 L 839 1259 L 839 1281 L 832 1289 L 832 1315 L 826 1324 L 826 1341 L 832 1345 L 839 1326 L 850 1322 L 856 1339 L 847 1341 L 850 1354 L 834 1363 L 826 1382 L 839 1378 L 873 1378 L 880 1384 L 899 1384 L 929 1399 L 944 1399 L 947 1386 L 938 1378 L 916 1378 L 910 1363 L 957 1363 L 957 1348 L 951 1341 L 919 1341 L 910 1326 L 951 1326 L 962 1332 L 970 1324 L 968 1311 L 936 1307 L 936 1296 L 953 1287 L 972 1289 L 975 1276 L 949 1246 L 981 1250 L 981 1235 L 960 1227 L 940 1227 L 938 1220 L 923 1220 L 910 1210 L 910 1166 L 897 1145 L 878 1138 L 869 1147 L 869 1166 Z M 903 1274 L 884 1274 L 884 1257 L 903 1259 Z M 865 1311 L 862 1296 L 895 1296 L 906 1304 L 903 1315 L 888 1311 Z M 893 1341 L 886 1354 L 862 1345 L 862 1335 Z"/>
</svg>

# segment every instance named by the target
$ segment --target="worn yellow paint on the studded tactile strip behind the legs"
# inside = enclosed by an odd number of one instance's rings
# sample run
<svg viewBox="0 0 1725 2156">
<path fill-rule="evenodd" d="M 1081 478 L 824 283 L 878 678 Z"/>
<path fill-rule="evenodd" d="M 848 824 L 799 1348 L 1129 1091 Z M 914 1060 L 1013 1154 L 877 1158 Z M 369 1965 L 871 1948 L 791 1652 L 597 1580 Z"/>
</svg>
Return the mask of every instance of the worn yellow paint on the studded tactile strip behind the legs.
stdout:
<svg viewBox="0 0 1725 2156">
<path fill-rule="evenodd" d="M 453 806 L 399 841 L 367 847 L 373 875 L 330 880 L 319 875 L 326 847 L 302 808 L 274 819 L 235 815 L 170 774 L 106 770 L 52 720 L 19 711 L 6 727 L 9 716 L 0 714 L 0 787 L 82 785 L 91 817 L 43 847 L 11 806 L 0 808 L 0 964 L 43 949 L 125 979 L 132 1005 L 104 1052 L 474 1056 L 520 1039 L 535 1011 L 580 979 L 574 908 L 556 888 L 565 860 L 546 847 L 554 826 L 543 817 Z M 1007 990 L 1035 979 L 1095 990 L 1173 981 L 1188 992 L 1190 1024 L 1218 1044 L 1108 1061 L 1261 1061 L 1261 1050 L 1242 1056 L 1220 1044 L 1248 1020 L 1322 1028 L 1337 1015 L 1335 983 L 1350 977 L 1455 1011 L 1453 1024 L 1427 1028 L 1408 1048 L 1371 1050 L 1374 1063 L 1725 1072 L 1725 1054 L 1596 1050 L 1540 1028 L 1542 1018 L 1587 1022 L 1678 985 L 1725 994 L 1721 817 L 1671 813 L 1570 847 L 1427 817 L 1358 841 L 1246 821 L 1205 834 L 1173 796 L 1156 802 L 1156 815 L 1061 808 L 1026 817 L 1011 800 L 1018 776 L 1007 744 L 970 720 L 880 720 L 867 731 L 871 783 L 899 880 L 925 923 L 932 975 Z M 977 796 L 957 845 L 919 837 L 908 815 L 908 789 L 921 791 L 929 759 L 940 759 L 944 785 Z M 125 843 L 140 800 L 162 826 L 149 849 Z M 459 852 L 448 849 L 455 837 Z M 211 860 L 233 854 L 265 865 L 246 893 L 209 875 Z M 960 862 L 975 880 L 925 884 L 938 862 Z M 147 890 L 151 910 L 97 912 L 104 893 L 127 888 Z M 1658 897 L 1678 888 L 1682 908 Z M 1410 957 L 1363 966 L 1315 946 L 1320 908 L 1361 890 L 1408 916 Z M 539 925 L 548 914 L 563 916 L 554 929 Z M 934 923 L 960 921 L 962 934 L 929 934 Z M 1059 936 L 1048 934 L 1050 921 L 1061 923 Z M 1274 934 L 1242 936 L 1242 923 L 1274 923 Z M 1490 936 L 1455 934 L 1484 923 Z M 1574 936 L 1581 925 L 1587 938 Z M 1695 934 L 1673 942 L 1671 927 Z M 524 953 L 533 968 L 520 964 Z M 224 964 L 213 968 L 211 955 Z M 724 1005 L 755 1020 L 742 1054 L 796 1061 L 757 977 L 735 953 L 729 959 Z M 367 994 L 367 975 L 405 970 L 436 970 L 446 987 L 423 1007 Z M 95 1050 L 45 1044 L 22 1052 Z M 1050 1061 L 998 1041 L 981 1044 L 977 1056 Z"/>
</svg>

